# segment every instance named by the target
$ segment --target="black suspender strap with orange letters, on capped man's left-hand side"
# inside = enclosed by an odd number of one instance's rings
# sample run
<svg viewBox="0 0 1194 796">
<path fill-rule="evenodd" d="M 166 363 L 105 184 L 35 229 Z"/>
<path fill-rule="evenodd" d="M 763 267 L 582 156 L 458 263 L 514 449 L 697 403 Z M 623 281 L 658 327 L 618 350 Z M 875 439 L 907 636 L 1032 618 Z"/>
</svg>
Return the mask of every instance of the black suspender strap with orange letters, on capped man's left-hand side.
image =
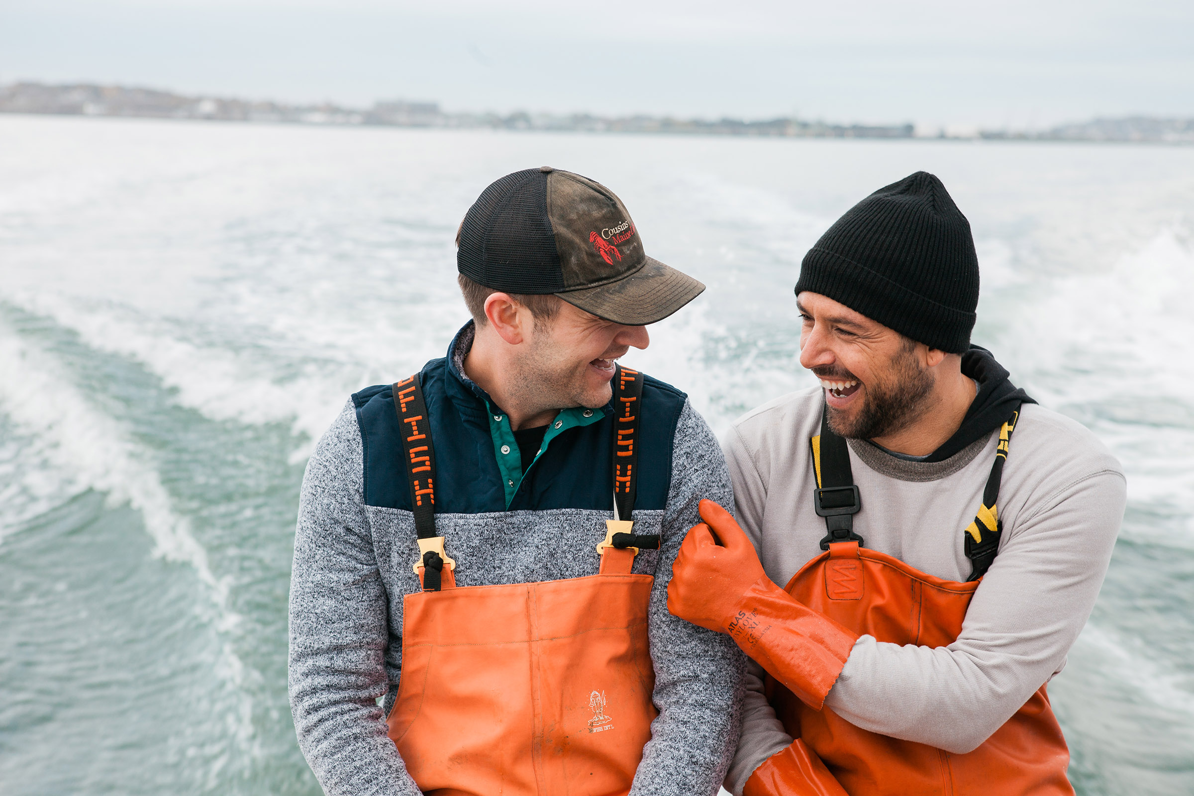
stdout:
<svg viewBox="0 0 1194 796">
<path fill-rule="evenodd" d="M 398 412 L 402 450 L 406 453 L 404 458 L 411 487 L 414 532 L 420 539 L 437 538 L 436 451 L 431 445 L 431 418 L 427 414 L 427 403 L 423 400 L 419 374 L 394 384 L 394 411 Z M 439 591 L 443 557 L 435 550 L 426 550 L 421 559 L 424 591 Z"/>
</svg>

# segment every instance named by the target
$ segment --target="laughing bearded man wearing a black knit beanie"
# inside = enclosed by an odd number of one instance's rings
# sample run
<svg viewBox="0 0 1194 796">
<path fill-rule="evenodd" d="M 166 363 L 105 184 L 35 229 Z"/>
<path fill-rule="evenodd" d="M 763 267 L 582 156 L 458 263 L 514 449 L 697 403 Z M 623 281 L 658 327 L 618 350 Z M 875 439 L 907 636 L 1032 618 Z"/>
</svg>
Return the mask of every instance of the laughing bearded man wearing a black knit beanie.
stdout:
<svg viewBox="0 0 1194 796">
<path fill-rule="evenodd" d="M 978 257 L 933 174 L 851 208 L 795 292 L 820 388 L 734 422 L 737 522 L 702 501 L 669 586 L 753 661 L 726 788 L 1072 794 L 1046 684 L 1107 572 L 1119 462 L 970 344 Z"/>
</svg>

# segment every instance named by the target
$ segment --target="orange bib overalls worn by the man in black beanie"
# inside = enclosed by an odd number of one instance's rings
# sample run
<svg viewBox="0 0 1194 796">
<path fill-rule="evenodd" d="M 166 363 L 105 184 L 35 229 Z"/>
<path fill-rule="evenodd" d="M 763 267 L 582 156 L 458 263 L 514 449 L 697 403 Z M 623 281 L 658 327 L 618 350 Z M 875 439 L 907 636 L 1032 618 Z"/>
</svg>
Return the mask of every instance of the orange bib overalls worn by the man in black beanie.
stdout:
<svg viewBox="0 0 1194 796">
<path fill-rule="evenodd" d="M 979 579 L 998 551 L 1002 529 L 996 499 L 1017 416 L 1018 412 L 1001 430 L 983 506 L 966 529 L 966 555 L 974 564 L 966 582 L 935 578 L 861 545 L 849 522 L 861 508 L 861 499 L 853 483 L 845 442 L 832 434 L 823 420 L 820 437 L 811 442 L 817 513 L 826 518 L 830 531 L 821 542 L 826 553 L 801 567 L 784 591 L 876 641 L 922 647 L 954 642 Z M 841 792 L 832 780 L 817 776 L 819 758 L 832 779 L 854 796 L 1073 794 L 1066 777 L 1070 752 L 1044 685 L 993 735 L 966 754 L 861 729 L 830 708 L 813 710 L 771 677 L 767 678 L 767 691 L 780 721 L 799 739 L 798 746 L 802 745 L 799 754 L 807 755 L 810 786 L 804 792 Z M 744 796 L 777 792 L 784 791 L 768 782 L 764 764 Z"/>
</svg>

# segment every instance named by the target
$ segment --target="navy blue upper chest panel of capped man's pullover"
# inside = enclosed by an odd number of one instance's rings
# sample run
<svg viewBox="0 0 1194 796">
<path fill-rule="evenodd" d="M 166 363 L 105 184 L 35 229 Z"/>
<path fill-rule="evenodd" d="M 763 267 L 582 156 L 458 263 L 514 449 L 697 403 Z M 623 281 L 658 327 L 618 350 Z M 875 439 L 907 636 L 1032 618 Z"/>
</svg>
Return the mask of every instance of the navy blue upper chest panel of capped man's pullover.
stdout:
<svg viewBox="0 0 1194 796">
<path fill-rule="evenodd" d="M 488 408 L 460 380 L 448 359 L 432 359 L 421 371 L 436 451 L 436 512 L 478 514 L 506 511 L 505 489 L 494 458 Z M 684 408 L 684 393 L 650 376 L 642 383 L 639 418 L 639 483 L 634 507 L 661 510 L 671 487 L 672 443 Z M 389 384 L 352 396 L 364 444 L 364 501 L 369 506 L 411 510 L 394 394 Z M 604 419 L 570 428 L 552 440 L 531 465 L 510 511 L 614 507 L 614 407 Z"/>
</svg>

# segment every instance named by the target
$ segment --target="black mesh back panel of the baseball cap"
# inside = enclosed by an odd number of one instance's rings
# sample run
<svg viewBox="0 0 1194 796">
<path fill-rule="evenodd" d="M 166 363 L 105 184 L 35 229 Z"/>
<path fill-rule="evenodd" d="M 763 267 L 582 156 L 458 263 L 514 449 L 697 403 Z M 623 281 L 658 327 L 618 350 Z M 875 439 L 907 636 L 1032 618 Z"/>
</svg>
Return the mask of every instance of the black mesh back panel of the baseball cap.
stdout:
<svg viewBox="0 0 1194 796">
<path fill-rule="evenodd" d="M 494 290 L 552 294 L 564 289 L 547 215 L 547 173 L 529 168 L 485 189 L 464 215 L 456 267 Z"/>
</svg>

